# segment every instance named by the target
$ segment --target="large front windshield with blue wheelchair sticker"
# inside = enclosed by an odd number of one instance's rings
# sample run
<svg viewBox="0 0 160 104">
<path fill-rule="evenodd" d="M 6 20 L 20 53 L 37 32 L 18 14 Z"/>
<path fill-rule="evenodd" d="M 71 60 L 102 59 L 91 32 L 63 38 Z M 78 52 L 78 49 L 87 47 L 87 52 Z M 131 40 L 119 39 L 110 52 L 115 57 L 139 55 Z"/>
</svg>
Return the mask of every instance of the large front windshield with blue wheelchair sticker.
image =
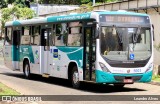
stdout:
<svg viewBox="0 0 160 104">
<path fill-rule="evenodd" d="M 150 28 L 104 26 L 100 40 L 101 54 L 108 60 L 140 61 L 151 56 Z"/>
</svg>

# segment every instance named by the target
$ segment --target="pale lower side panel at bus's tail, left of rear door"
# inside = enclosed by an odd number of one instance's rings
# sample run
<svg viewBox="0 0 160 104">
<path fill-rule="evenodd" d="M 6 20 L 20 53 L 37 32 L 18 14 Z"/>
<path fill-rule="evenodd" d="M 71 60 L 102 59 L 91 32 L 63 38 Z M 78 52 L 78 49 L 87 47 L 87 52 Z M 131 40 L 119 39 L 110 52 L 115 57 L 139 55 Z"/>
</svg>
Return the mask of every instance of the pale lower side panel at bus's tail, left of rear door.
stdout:
<svg viewBox="0 0 160 104">
<path fill-rule="evenodd" d="M 6 67 L 9 69 L 14 70 L 13 65 L 12 65 L 12 46 L 4 46 L 4 64 Z"/>
</svg>

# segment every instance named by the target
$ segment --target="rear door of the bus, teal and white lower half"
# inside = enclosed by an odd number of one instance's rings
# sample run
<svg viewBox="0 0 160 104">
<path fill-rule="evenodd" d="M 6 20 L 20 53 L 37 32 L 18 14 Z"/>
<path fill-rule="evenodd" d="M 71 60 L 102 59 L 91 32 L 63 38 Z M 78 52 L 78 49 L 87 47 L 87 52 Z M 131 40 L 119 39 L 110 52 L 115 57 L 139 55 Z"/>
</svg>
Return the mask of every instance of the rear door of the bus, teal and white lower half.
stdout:
<svg viewBox="0 0 160 104">
<path fill-rule="evenodd" d="M 20 30 L 14 30 L 12 35 L 12 65 L 13 70 L 20 69 L 19 68 L 19 61 L 20 61 Z"/>
</svg>

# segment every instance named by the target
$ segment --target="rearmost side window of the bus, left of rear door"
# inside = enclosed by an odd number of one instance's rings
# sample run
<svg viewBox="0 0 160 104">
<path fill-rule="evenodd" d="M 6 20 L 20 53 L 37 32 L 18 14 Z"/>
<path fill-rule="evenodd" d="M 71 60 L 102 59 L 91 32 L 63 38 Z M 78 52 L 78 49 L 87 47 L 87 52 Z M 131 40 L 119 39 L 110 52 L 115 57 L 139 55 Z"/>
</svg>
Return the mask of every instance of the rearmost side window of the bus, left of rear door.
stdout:
<svg viewBox="0 0 160 104">
<path fill-rule="evenodd" d="M 5 45 L 11 45 L 12 44 L 12 28 L 11 27 L 7 27 L 5 29 Z"/>
</svg>

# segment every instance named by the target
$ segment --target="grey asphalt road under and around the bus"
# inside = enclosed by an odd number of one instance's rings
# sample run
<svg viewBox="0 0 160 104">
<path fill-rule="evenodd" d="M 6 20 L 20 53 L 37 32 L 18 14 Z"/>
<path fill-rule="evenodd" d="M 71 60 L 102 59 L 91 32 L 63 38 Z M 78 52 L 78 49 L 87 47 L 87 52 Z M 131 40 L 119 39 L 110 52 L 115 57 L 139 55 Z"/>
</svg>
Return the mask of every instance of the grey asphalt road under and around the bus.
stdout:
<svg viewBox="0 0 160 104">
<path fill-rule="evenodd" d="M 20 92 L 22 95 L 160 95 L 160 86 L 146 83 L 134 83 L 126 85 L 123 89 L 114 88 L 112 85 L 97 85 L 93 83 L 83 83 L 81 89 L 73 89 L 69 81 L 58 78 L 42 78 L 35 75 L 31 80 L 25 79 L 23 73 L 11 71 L 4 66 L 0 66 L 0 82 Z M 31 102 L 33 104 L 75 104 L 73 101 L 58 102 Z M 77 104 L 106 104 L 105 101 L 78 101 Z M 133 102 L 109 101 L 109 104 L 124 104 Z M 160 102 L 137 101 L 139 104 L 155 104 Z M 17 103 L 16 103 L 17 104 Z"/>
</svg>

